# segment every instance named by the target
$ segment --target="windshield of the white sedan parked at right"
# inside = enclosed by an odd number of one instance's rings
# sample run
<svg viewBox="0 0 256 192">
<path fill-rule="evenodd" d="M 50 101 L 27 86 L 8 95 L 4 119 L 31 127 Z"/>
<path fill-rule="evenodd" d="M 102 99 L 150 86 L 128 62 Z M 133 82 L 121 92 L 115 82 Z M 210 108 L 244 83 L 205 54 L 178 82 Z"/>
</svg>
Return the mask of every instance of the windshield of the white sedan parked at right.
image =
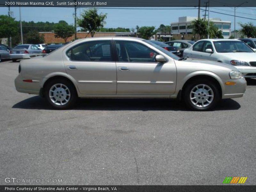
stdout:
<svg viewBox="0 0 256 192">
<path fill-rule="evenodd" d="M 230 53 L 230 52 L 253 52 L 244 42 L 242 41 L 214 41 L 214 47 L 219 53 Z"/>
</svg>

